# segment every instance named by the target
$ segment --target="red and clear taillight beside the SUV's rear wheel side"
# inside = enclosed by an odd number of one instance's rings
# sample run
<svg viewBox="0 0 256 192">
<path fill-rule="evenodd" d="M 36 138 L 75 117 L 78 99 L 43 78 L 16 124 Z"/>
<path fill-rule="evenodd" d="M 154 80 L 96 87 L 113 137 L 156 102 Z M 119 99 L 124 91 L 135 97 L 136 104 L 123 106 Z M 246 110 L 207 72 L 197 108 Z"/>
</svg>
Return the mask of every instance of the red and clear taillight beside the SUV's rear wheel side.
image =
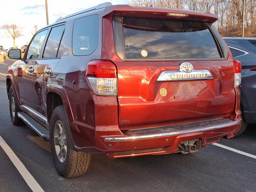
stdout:
<svg viewBox="0 0 256 192">
<path fill-rule="evenodd" d="M 108 60 L 92 60 L 88 63 L 86 77 L 97 95 L 117 95 L 116 66 Z"/>
</svg>

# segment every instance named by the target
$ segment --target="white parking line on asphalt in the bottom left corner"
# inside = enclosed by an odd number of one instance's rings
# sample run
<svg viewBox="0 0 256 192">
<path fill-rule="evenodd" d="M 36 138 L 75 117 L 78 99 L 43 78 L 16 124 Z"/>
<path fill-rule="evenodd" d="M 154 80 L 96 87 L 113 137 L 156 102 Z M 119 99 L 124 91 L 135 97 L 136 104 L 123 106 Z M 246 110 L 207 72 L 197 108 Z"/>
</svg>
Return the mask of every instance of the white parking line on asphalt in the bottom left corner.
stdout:
<svg viewBox="0 0 256 192">
<path fill-rule="evenodd" d="M 24 178 L 28 186 L 33 192 L 44 192 L 41 186 L 36 182 L 34 177 L 28 172 L 24 164 L 19 160 L 19 158 L 14 154 L 12 149 L 7 145 L 7 143 L 0 136 L 0 146 L 3 148 L 4 152 L 8 155 L 14 166 L 20 172 L 21 176 Z"/>
</svg>

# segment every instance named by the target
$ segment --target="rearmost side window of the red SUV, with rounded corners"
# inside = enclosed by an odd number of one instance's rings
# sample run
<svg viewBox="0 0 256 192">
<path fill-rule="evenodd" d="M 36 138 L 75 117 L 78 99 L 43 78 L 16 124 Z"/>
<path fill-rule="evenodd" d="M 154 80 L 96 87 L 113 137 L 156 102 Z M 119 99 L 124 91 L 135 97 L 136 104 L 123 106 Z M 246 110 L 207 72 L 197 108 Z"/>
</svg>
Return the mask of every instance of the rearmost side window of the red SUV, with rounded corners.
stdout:
<svg viewBox="0 0 256 192">
<path fill-rule="evenodd" d="M 99 17 L 92 15 L 76 19 L 73 27 L 74 55 L 89 55 L 98 46 Z"/>
</svg>

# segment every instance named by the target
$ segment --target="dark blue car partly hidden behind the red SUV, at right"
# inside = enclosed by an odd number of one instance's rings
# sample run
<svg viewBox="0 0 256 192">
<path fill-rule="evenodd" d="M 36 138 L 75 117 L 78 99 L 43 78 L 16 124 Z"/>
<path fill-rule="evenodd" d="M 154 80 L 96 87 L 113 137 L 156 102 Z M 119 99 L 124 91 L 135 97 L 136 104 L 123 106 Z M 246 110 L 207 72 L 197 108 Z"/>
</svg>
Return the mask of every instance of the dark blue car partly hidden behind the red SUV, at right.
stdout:
<svg viewBox="0 0 256 192">
<path fill-rule="evenodd" d="M 242 62 L 242 134 L 248 123 L 256 123 L 256 38 L 224 38 L 234 59 Z"/>
</svg>

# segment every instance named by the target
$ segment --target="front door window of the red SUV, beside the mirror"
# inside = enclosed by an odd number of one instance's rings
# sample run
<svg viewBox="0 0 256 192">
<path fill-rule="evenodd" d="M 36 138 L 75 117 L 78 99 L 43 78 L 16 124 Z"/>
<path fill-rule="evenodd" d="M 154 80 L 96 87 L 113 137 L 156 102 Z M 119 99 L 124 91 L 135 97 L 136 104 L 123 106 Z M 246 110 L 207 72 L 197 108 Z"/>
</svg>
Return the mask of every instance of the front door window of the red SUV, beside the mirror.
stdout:
<svg viewBox="0 0 256 192">
<path fill-rule="evenodd" d="M 34 39 L 32 40 L 32 42 L 28 48 L 27 59 L 37 59 L 38 58 L 47 32 L 48 32 L 48 30 L 44 30 L 44 31 L 41 31 L 38 34 L 36 34 L 36 36 L 34 37 Z"/>
</svg>

